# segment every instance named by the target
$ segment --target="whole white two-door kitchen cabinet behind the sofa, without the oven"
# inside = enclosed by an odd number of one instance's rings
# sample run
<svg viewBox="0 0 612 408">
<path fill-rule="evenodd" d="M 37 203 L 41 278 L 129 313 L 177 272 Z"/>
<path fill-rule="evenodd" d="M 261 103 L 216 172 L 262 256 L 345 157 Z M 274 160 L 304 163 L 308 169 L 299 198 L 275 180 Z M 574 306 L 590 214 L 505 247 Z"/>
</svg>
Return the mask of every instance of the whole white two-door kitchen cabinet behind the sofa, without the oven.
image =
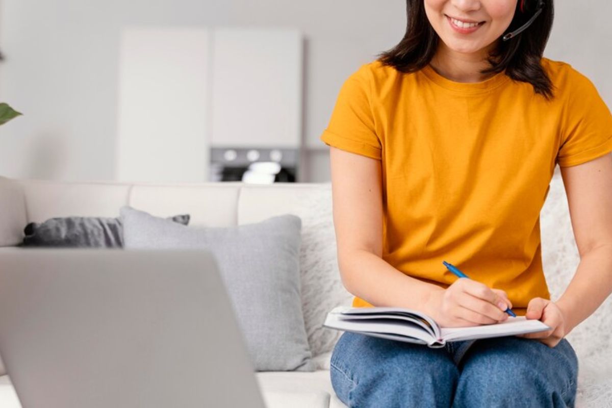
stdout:
<svg viewBox="0 0 612 408">
<path fill-rule="evenodd" d="M 118 180 L 203 182 L 211 147 L 300 147 L 297 30 L 129 28 L 120 53 Z"/>
</svg>

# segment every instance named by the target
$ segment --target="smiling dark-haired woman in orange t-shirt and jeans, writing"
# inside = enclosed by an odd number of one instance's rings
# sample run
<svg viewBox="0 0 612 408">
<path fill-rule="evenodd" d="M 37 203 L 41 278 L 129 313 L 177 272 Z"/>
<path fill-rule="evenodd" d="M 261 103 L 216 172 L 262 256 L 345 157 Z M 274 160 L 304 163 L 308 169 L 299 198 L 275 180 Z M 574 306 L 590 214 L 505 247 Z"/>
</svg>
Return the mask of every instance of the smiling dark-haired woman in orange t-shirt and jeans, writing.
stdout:
<svg viewBox="0 0 612 408">
<path fill-rule="evenodd" d="M 404 39 L 346 80 L 321 136 L 343 284 L 355 307 L 421 310 L 443 327 L 501 322 L 510 307 L 551 330 L 444 349 L 345 332 L 335 393 L 351 407 L 573 406 L 564 336 L 612 291 L 610 111 L 588 78 L 542 57 L 551 0 L 407 6 Z M 539 214 L 556 165 L 581 262 L 553 302 Z"/>
</svg>

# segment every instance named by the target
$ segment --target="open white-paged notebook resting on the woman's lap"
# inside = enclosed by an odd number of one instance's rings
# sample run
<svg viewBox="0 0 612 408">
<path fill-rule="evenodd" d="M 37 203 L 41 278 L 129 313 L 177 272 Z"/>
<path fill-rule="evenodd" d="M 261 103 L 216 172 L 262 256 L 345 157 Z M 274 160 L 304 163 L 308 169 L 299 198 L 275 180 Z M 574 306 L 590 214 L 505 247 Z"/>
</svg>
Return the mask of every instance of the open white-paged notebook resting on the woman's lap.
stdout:
<svg viewBox="0 0 612 408">
<path fill-rule="evenodd" d="M 406 308 L 338 306 L 327 313 L 324 327 L 362 333 L 368 336 L 444 347 L 447 341 L 518 335 L 550 330 L 539 320 L 524 316 L 508 317 L 505 322 L 472 327 L 440 327 L 430 316 Z"/>
</svg>

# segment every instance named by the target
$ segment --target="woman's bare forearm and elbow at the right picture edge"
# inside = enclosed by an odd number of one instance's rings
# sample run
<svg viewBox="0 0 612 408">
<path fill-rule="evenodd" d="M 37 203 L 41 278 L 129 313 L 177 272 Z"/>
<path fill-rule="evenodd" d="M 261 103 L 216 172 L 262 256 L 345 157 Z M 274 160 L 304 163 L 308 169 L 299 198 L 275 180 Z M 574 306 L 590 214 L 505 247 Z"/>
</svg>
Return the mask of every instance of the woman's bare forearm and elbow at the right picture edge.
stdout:
<svg viewBox="0 0 612 408">
<path fill-rule="evenodd" d="M 556 302 L 565 333 L 602 304 L 612 292 L 612 155 L 562 167 L 580 264 Z"/>
</svg>

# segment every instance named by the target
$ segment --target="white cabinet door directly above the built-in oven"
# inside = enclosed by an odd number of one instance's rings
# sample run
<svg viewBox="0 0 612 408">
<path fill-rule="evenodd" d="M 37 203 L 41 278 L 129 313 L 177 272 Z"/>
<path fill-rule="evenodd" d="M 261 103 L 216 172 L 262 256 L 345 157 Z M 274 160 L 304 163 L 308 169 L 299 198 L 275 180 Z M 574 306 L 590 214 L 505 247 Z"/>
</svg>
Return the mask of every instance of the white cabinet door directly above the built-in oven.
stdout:
<svg viewBox="0 0 612 408">
<path fill-rule="evenodd" d="M 299 147 L 300 33 L 223 28 L 213 37 L 212 146 Z"/>
</svg>

